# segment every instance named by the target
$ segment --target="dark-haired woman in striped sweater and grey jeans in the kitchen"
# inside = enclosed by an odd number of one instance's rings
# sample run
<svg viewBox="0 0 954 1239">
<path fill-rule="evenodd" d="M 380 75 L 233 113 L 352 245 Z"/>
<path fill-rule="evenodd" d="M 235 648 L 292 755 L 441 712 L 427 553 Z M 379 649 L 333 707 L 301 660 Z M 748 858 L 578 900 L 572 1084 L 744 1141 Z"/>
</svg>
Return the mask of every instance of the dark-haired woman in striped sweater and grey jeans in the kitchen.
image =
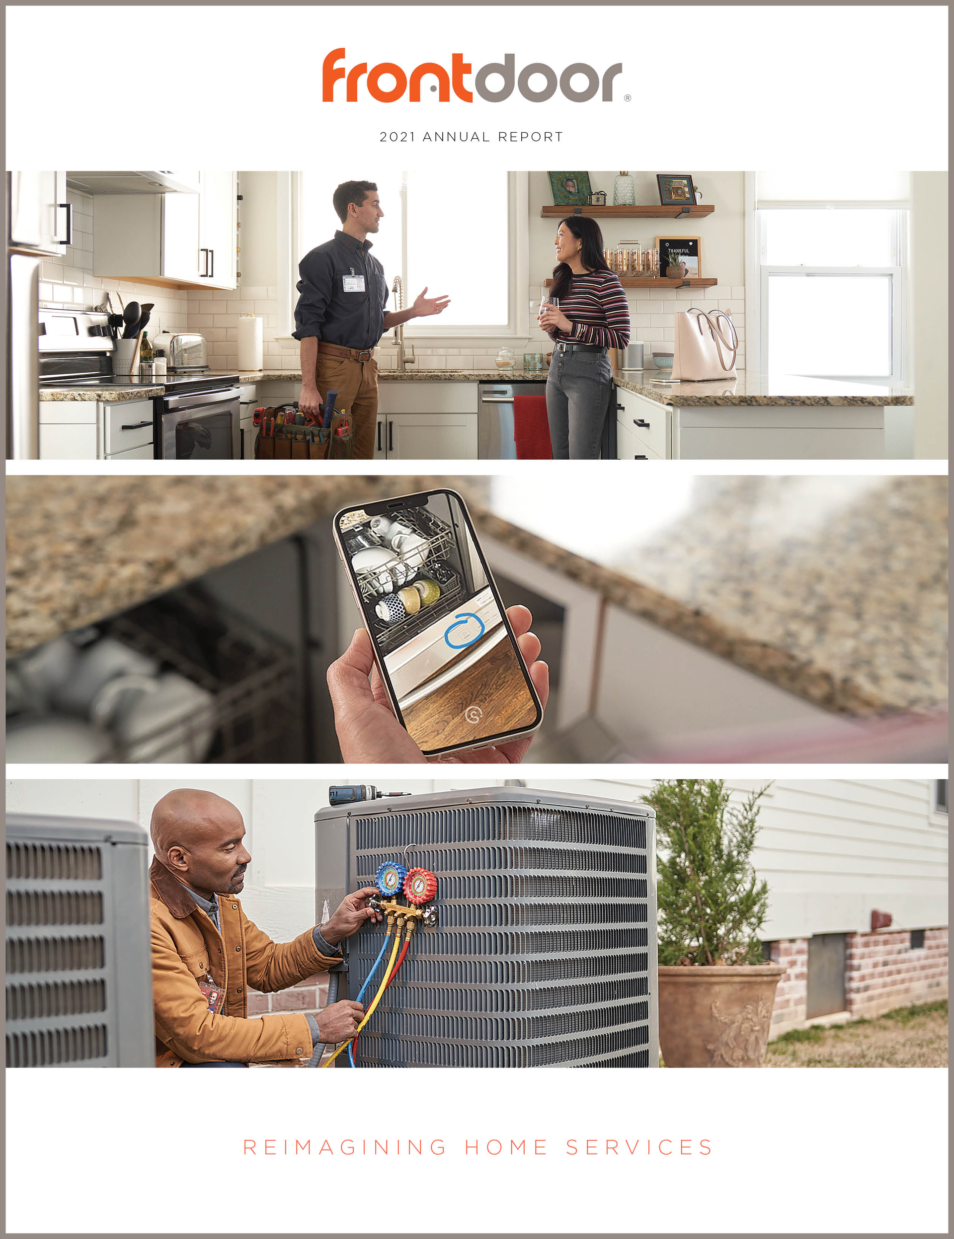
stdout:
<svg viewBox="0 0 954 1239">
<path fill-rule="evenodd" d="M 613 390 L 607 349 L 629 342 L 629 306 L 606 265 L 595 219 L 567 216 L 560 223 L 553 275 L 540 313 L 554 341 L 546 379 L 550 445 L 554 460 L 596 460 Z"/>
</svg>

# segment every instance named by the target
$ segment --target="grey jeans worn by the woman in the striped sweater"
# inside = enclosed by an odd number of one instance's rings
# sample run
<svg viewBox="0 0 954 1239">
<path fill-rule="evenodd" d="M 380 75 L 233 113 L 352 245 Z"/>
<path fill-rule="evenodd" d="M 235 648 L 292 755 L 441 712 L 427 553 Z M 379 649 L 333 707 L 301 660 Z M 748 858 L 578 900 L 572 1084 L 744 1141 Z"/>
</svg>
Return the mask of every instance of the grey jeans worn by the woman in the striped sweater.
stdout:
<svg viewBox="0 0 954 1239">
<path fill-rule="evenodd" d="M 613 390 L 606 352 L 554 349 L 546 377 L 546 420 L 554 460 L 595 461 Z"/>
</svg>

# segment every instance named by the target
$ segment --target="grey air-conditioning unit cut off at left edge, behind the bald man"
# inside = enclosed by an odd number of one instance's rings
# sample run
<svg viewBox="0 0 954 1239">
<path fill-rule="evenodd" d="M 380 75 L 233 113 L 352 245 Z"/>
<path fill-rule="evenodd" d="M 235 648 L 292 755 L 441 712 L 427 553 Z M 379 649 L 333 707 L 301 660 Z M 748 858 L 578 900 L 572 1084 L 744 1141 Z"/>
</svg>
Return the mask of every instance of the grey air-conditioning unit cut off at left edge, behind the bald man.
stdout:
<svg viewBox="0 0 954 1239">
<path fill-rule="evenodd" d="M 7 817 L 7 1067 L 155 1066 L 147 839 Z"/>
</svg>

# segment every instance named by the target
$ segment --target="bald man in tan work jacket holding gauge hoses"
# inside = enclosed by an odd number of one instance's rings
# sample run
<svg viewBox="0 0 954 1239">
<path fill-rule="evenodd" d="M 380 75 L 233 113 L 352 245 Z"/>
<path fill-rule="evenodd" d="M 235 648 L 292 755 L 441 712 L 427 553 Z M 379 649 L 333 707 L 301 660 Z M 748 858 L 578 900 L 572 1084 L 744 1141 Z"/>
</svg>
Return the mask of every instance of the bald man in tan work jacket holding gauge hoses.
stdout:
<svg viewBox="0 0 954 1239">
<path fill-rule="evenodd" d="M 212 792 L 178 788 L 152 810 L 150 870 L 152 1005 L 157 1067 L 316 1067 L 326 1042 L 348 1041 L 363 1014 L 332 1002 L 317 1015 L 248 1018 L 249 986 L 287 989 L 341 961 L 343 938 L 365 921 L 373 886 L 348 895 L 321 929 L 276 943 L 254 926 L 238 895 L 252 856 L 242 814 Z"/>
</svg>

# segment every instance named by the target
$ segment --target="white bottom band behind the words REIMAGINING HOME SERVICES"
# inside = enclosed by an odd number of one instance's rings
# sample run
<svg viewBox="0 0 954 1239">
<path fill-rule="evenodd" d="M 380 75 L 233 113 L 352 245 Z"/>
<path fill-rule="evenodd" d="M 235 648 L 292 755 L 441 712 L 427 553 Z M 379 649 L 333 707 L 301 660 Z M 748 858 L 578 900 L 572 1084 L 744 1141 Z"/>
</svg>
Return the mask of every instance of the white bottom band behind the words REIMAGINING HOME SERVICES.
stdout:
<svg viewBox="0 0 954 1239">
<path fill-rule="evenodd" d="M 9 1072 L 10 1230 L 926 1233 L 945 1229 L 947 1073 Z M 64 1084 L 68 1083 L 68 1099 Z M 223 1093 L 225 1085 L 222 1085 Z M 917 1121 L 911 1116 L 917 1115 Z M 401 1139 L 342 1156 L 327 1139 Z M 404 1141 L 444 1140 L 442 1157 Z M 536 1137 L 546 1156 L 488 1156 Z M 567 1139 L 636 1144 L 576 1157 Z M 311 1156 L 243 1155 L 266 1139 Z M 688 1139 L 709 1156 L 660 1155 Z M 465 1155 L 465 1141 L 482 1151 Z M 647 1154 L 645 1142 L 652 1141 Z M 281 1145 L 276 1145 L 281 1149 Z M 600 1147 L 600 1146 L 597 1146 Z M 55 1167 L 55 1171 L 52 1171 Z M 53 1180 L 55 1175 L 55 1180 Z M 51 1182 L 56 1191 L 51 1191 Z M 146 1203 L 147 1202 L 147 1203 Z"/>
</svg>

